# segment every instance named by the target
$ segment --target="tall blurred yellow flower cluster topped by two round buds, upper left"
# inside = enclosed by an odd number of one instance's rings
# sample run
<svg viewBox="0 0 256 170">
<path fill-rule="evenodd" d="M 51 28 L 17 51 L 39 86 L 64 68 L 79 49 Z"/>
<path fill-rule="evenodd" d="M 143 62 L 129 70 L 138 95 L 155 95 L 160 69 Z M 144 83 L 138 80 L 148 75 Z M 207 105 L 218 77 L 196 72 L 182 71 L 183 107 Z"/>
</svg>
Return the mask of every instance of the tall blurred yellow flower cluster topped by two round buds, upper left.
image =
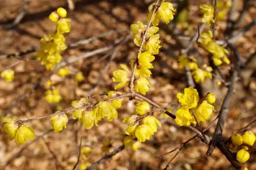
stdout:
<svg viewBox="0 0 256 170">
<path fill-rule="evenodd" d="M 61 62 L 61 51 L 67 48 L 64 33 L 69 33 L 71 27 L 66 14 L 64 8 L 52 12 L 49 19 L 56 23 L 56 33 L 49 33 L 40 40 L 42 48 L 37 51 L 37 60 L 40 60 L 47 70 L 54 69 L 55 65 Z"/>
</svg>

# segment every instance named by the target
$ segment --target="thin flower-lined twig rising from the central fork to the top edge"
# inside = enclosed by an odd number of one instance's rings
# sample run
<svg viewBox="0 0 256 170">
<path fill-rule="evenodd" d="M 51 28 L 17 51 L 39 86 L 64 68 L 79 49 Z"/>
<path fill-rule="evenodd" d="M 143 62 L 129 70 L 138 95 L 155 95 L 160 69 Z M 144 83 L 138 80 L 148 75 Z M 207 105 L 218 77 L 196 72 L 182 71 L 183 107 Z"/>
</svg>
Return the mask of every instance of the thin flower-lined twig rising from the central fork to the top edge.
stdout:
<svg viewBox="0 0 256 170">
<path fill-rule="evenodd" d="M 162 0 L 157 0 L 156 1 L 156 5 L 154 6 L 154 9 L 152 11 L 152 15 L 151 15 L 151 18 L 149 20 L 149 23 L 148 23 L 148 26 L 146 28 L 146 30 L 144 31 L 144 35 L 143 35 L 143 40 L 141 41 L 141 46 L 139 47 L 139 52 L 138 54 L 141 54 L 141 51 L 143 49 L 143 45 L 146 41 L 146 35 L 148 33 L 148 30 L 149 30 L 149 27 L 151 26 L 151 23 L 153 21 L 153 17 L 154 17 L 154 14 L 156 13 L 156 10 L 160 7 L 161 5 L 161 1 Z M 134 62 L 134 67 L 133 67 L 133 70 L 132 70 L 132 77 L 131 77 L 131 82 L 130 82 L 130 90 L 133 92 L 134 91 L 134 77 L 135 77 L 135 72 L 136 72 L 136 69 L 137 69 L 137 62 L 138 62 L 138 58 L 136 57 L 136 61 Z"/>
</svg>

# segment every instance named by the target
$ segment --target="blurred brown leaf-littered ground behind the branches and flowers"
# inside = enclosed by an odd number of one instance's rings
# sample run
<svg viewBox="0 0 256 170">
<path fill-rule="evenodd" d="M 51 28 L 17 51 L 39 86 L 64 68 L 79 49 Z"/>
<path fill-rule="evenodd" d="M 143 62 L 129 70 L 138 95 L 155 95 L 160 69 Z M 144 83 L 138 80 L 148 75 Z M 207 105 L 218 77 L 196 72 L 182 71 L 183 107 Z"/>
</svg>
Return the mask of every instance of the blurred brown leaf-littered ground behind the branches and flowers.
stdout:
<svg viewBox="0 0 256 170">
<path fill-rule="evenodd" d="M 240 15 L 244 4 L 242 0 L 237 1 L 234 20 Z M 65 50 L 62 52 L 64 60 L 113 45 L 116 40 L 129 34 L 132 23 L 137 21 L 146 23 L 148 6 L 152 2 L 150 0 L 0 0 L 0 55 L 40 48 L 40 38 L 55 30 L 55 25 L 48 16 L 59 7 L 68 9 L 67 18 L 71 18 L 71 32 L 66 35 L 67 44 L 108 33 L 85 45 Z M 211 1 L 169 2 L 172 2 L 178 10 L 173 23 L 169 25 L 161 23 L 159 26 L 162 47 L 160 54 L 153 62 L 153 74 L 149 79 L 152 87 L 147 96 L 165 108 L 175 109 L 178 105 L 176 94 L 187 87 L 185 72 L 179 68 L 177 62 L 180 50 L 188 45 L 190 38 L 197 33 L 197 26 L 201 25 L 202 13 L 199 4 L 211 4 Z M 21 20 L 17 19 L 17 16 L 20 16 Z M 237 31 L 239 32 L 255 18 L 256 7 L 255 2 L 252 1 Z M 227 18 L 216 23 L 217 40 L 224 40 L 224 35 L 228 35 L 229 32 L 225 32 L 226 26 Z M 240 77 L 235 85 L 236 93 L 231 98 L 230 110 L 224 127 L 224 139 L 228 139 L 233 132 L 255 119 L 256 60 L 252 57 L 255 56 L 256 51 L 255 28 L 253 26 L 235 43 L 247 67 L 241 69 Z M 26 120 L 49 115 L 58 110 L 71 109 L 71 101 L 84 96 L 107 93 L 115 86 L 112 82 L 112 72 L 120 64 L 129 65 L 131 59 L 136 59 L 138 50 L 139 48 L 130 37 L 120 46 L 115 59 L 110 62 L 110 67 L 104 74 L 102 72 L 110 61 L 111 50 L 69 65 L 71 74 L 67 77 L 59 77 L 55 74 L 50 76 L 50 80 L 55 82 L 55 87 L 59 89 L 62 96 L 61 102 L 57 104 L 49 104 L 45 101 L 47 88 L 44 84 L 37 86 L 41 78 L 46 78 L 50 72 L 45 71 L 44 65 L 35 60 L 36 53 L 23 55 L 21 59 L 0 57 L 1 67 L 8 67 L 22 60 L 13 67 L 15 70 L 13 82 L 0 79 L 0 115 L 16 115 L 21 120 Z M 190 55 L 194 55 L 199 63 L 203 63 L 209 56 L 197 45 L 194 45 Z M 222 69 L 224 74 L 228 75 L 230 69 Z M 84 81 L 75 81 L 74 75 L 77 71 L 83 73 Z M 214 77 L 212 80 L 197 84 L 201 96 L 208 92 L 216 93 L 217 96 L 214 104 L 217 112 L 209 122 L 202 124 L 203 127 L 207 127 L 218 115 L 228 89 L 226 86 L 217 86 L 217 81 L 218 78 Z M 128 90 L 128 87 L 120 89 L 125 92 Z M 106 99 L 105 96 L 96 96 L 91 98 L 90 102 L 94 103 L 103 99 Z M 112 152 L 122 145 L 126 128 L 122 119 L 134 113 L 136 104 L 137 101 L 125 99 L 122 108 L 118 110 L 119 118 L 113 122 L 104 120 L 99 123 L 98 127 L 93 127 L 91 130 L 85 130 L 73 120 L 70 120 L 67 128 L 59 133 L 48 132 L 50 130 L 49 118 L 28 123 L 35 130 L 36 137 L 39 137 L 30 145 L 23 146 L 16 145 L 14 141 L 9 142 L 6 133 L 0 132 L 0 167 L 5 167 L 5 169 L 73 169 L 78 159 L 81 137 L 83 139 L 81 146 L 91 147 L 92 151 L 88 157 L 82 154 L 79 163 L 96 162 L 107 154 L 106 151 Z M 151 140 L 143 143 L 135 152 L 131 148 L 122 150 L 95 169 L 164 169 L 175 153 L 168 154 L 161 159 L 156 159 L 156 156 L 180 146 L 194 133 L 187 128 L 179 127 L 174 120 L 164 117 L 161 113 L 156 113 L 156 115 L 161 120 L 162 127 Z M 69 117 L 72 118 L 70 115 Z M 256 133 L 255 124 L 250 127 L 250 130 Z M 210 128 L 207 135 L 212 136 L 213 132 L 214 127 Z M 103 142 L 106 140 L 110 141 L 109 148 L 102 150 Z M 234 169 L 218 149 L 214 150 L 211 157 L 207 157 L 207 148 L 207 145 L 202 142 L 192 140 L 172 161 L 169 169 Z M 255 155 L 254 150 L 247 162 L 249 169 L 256 169 Z M 80 169 L 80 166 L 77 169 Z"/>
</svg>

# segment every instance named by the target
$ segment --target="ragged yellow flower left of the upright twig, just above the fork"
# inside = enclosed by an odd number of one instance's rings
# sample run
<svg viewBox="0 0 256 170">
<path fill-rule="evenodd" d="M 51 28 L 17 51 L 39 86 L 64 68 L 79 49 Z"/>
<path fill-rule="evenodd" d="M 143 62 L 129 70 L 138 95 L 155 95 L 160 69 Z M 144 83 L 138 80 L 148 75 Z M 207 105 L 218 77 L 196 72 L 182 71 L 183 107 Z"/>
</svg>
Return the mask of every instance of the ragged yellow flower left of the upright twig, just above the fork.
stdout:
<svg viewBox="0 0 256 170">
<path fill-rule="evenodd" d="M 119 82 L 115 89 L 123 88 L 128 81 L 129 70 L 126 65 L 120 64 L 121 68 L 113 72 L 113 82 Z"/>
</svg>

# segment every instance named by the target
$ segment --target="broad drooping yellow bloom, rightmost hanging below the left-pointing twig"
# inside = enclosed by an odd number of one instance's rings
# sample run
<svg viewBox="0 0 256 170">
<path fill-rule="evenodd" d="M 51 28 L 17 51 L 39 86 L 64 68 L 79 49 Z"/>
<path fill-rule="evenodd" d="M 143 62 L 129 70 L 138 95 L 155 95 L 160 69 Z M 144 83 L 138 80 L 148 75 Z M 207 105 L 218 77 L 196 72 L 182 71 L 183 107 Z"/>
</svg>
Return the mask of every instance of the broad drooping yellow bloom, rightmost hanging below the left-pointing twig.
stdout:
<svg viewBox="0 0 256 170">
<path fill-rule="evenodd" d="M 108 118 L 109 122 L 113 121 L 113 118 L 117 118 L 118 113 L 112 103 L 108 101 L 100 101 L 93 110 L 96 120 L 102 120 L 102 118 Z"/>
</svg>

